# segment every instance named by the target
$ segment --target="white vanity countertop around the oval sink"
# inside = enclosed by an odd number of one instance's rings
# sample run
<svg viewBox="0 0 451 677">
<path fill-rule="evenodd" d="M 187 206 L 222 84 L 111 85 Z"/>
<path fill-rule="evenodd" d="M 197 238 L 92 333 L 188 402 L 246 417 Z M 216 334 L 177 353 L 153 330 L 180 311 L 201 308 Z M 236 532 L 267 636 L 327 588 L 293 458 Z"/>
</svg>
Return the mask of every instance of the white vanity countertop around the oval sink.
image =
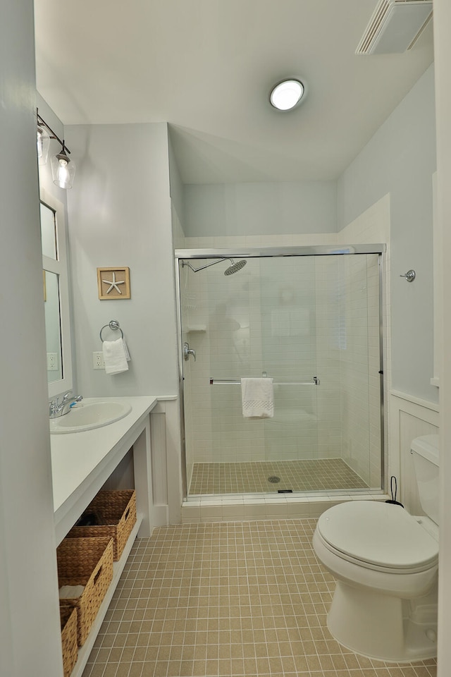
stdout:
<svg viewBox="0 0 451 677">
<path fill-rule="evenodd" d="M 87 398 L 86 403 L 114 400 L 132 410 L 116 422 L 70 434 L 51 435 L 51 472 L 57 541 L 64 537 L 85 505 L 140 436 L 157 396 Z M 70 413 L 67 414 L 70 416 Z M 92 496 L 90 495 L 92 494 Z M 81 508 L 81 509 L 80 509 Z M 78 510 L 80 512 L 78 513 Z"/>
</svg>

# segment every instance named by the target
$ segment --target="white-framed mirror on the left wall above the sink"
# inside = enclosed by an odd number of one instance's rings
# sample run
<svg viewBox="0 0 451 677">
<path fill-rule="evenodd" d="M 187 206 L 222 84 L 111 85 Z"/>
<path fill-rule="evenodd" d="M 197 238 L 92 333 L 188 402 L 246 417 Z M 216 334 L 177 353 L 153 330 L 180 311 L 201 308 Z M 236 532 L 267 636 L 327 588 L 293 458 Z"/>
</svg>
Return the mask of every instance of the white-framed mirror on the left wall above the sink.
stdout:
<svg viewBox="0 0 451 677">
<path fill-rule="evenodd" d="M 49 397 L 72 389 L 70 309 L 64 207 L 41 190 L 42 284 Z"/>
</svg>

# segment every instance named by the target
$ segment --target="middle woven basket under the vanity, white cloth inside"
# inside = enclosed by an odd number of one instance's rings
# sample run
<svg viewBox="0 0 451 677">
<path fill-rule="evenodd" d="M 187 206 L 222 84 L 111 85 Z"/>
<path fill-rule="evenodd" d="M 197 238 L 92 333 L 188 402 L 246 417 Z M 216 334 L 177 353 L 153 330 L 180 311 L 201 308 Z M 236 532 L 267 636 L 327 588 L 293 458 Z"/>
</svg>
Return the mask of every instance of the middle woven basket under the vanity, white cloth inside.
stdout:
<svg viewBox="0 0 451 677">
<path fill-rule="evenodd" d="M 64 599 L 64 604 L 77 607 L 77 640 L 81 647 L 113 579 L 113 539 L 65 538 L 56 549 L 56 559 L 59 587 L 85 586 L 80 597 Z"/>
</svg>

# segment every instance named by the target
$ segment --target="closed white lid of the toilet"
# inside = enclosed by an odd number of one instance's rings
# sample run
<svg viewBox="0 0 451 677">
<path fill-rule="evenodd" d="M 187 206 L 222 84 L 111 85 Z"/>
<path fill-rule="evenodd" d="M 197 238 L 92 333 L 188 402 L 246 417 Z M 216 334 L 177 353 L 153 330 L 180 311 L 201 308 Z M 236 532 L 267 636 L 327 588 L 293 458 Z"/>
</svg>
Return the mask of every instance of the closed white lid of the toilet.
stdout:
<svg viewBox="0 0 451 677">
<path fill-rule="evenodd" d="M 400 506 L 348 501 L 326 510 L 317 528 L 331 547 L 362 563 L 417 569 L 438 559 L 438 542 Z"/>
</svg>

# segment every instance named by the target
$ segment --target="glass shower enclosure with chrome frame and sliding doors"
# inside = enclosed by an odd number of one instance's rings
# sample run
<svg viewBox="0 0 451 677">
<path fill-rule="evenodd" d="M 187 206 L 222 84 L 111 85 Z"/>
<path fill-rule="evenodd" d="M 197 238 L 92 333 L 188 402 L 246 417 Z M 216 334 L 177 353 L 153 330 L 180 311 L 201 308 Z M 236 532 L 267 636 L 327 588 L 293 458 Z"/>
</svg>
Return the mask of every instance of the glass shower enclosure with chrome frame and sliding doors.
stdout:
<svg viewBox="0 0 451 677">
<path fill-rule="evenodd" d="M 384 249 L 175 252 L 185 496 L 381 492 Z"/>
</svg>

